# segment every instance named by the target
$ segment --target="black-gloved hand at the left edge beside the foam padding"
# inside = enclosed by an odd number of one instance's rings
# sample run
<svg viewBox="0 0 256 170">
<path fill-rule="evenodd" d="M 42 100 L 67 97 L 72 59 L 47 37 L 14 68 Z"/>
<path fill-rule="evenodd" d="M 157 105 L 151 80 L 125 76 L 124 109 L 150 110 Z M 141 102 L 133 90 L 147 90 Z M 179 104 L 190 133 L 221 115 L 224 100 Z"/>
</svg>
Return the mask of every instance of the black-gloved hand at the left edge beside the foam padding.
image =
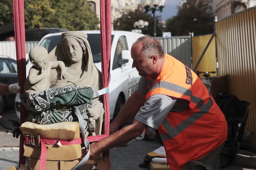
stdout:
<svg viewBox="0 0 256 170">
<path fill-rule="evenodd" d="M 5 129 L 9 129 L 13 132 L 13 137 L 19 137 L 20 131 L 20 124 L 17 121 L 9 120 L 4 117 L 0 118 L 0 125 L 3 126 Z"/>
</svg>

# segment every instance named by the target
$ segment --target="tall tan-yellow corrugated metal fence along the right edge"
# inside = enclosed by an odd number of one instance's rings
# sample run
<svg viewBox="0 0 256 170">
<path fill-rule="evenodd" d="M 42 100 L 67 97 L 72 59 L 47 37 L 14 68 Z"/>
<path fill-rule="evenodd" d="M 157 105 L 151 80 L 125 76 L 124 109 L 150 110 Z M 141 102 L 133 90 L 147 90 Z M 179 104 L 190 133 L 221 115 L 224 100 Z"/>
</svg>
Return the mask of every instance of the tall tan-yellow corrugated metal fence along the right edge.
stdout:
<svg viewBox="0 0 256 170">
<path fill-rule="evenodd" d="M 256 8 L 216 23 L 218 76 L 229 74 L 230 94 L 250 102 L 247 129 L 256 132 Z"/>
</svg>

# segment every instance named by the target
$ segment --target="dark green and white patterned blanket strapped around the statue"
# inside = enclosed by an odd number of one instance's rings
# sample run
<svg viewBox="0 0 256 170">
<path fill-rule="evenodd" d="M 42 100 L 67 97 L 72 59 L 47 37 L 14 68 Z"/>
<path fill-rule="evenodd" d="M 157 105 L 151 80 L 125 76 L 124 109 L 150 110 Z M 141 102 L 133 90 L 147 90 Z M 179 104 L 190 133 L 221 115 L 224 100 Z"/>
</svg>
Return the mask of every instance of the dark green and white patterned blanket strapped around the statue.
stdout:
<svg viewBox="0 0 256 170">
<path fill-rule="evenodd" d="M 56 87 L 33 93 L 29 96 L 32 107 L 39 112 L 31 112 L 33 119 L 40 124 L 78 121 L 71 106 L 77 106 L 88 128 L 87 109 L 92 107 L 91 87 Z M 71 106 L 70 106 L 71 105 Z M 61 108 L 57 107 L 61 106 Z M 66 107 L 66 108 L 65 108 Z"/>
</svg>

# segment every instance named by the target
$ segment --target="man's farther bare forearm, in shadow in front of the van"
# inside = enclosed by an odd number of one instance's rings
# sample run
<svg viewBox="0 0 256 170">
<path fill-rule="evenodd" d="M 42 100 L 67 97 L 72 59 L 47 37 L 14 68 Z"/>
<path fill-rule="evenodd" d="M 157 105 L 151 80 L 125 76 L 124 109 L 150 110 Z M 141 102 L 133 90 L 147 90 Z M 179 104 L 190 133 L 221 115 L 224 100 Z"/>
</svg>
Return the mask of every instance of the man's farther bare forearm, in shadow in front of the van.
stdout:
<svg viewBox="0 0 256 170">
<path fill-rule="evenodd" d="M 128 120 L 132 119 L 137 112 L 140 110 L 140 107 L 146 101 L 146 96 L 135 91 L 125 102 L 124 106 L 110 124 L 110 134 L 116 132 L 118 127 Z"/>
</svg>

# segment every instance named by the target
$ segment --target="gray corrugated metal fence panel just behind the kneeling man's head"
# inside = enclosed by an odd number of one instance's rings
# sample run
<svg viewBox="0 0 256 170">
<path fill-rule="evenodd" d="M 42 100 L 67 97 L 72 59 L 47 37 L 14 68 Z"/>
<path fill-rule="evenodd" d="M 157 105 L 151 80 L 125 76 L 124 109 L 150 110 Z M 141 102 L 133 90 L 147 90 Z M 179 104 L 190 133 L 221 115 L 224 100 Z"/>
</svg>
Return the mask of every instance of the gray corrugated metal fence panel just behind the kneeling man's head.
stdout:
<svg viewBox="0 0 256 170">
<path fill-rule="evenodd" d="M 192 67 L 190 36 L 156 37 L 156 39 L 163 45 L 165 54 L 171 55 L 190 68 Z"/>
</svg>

